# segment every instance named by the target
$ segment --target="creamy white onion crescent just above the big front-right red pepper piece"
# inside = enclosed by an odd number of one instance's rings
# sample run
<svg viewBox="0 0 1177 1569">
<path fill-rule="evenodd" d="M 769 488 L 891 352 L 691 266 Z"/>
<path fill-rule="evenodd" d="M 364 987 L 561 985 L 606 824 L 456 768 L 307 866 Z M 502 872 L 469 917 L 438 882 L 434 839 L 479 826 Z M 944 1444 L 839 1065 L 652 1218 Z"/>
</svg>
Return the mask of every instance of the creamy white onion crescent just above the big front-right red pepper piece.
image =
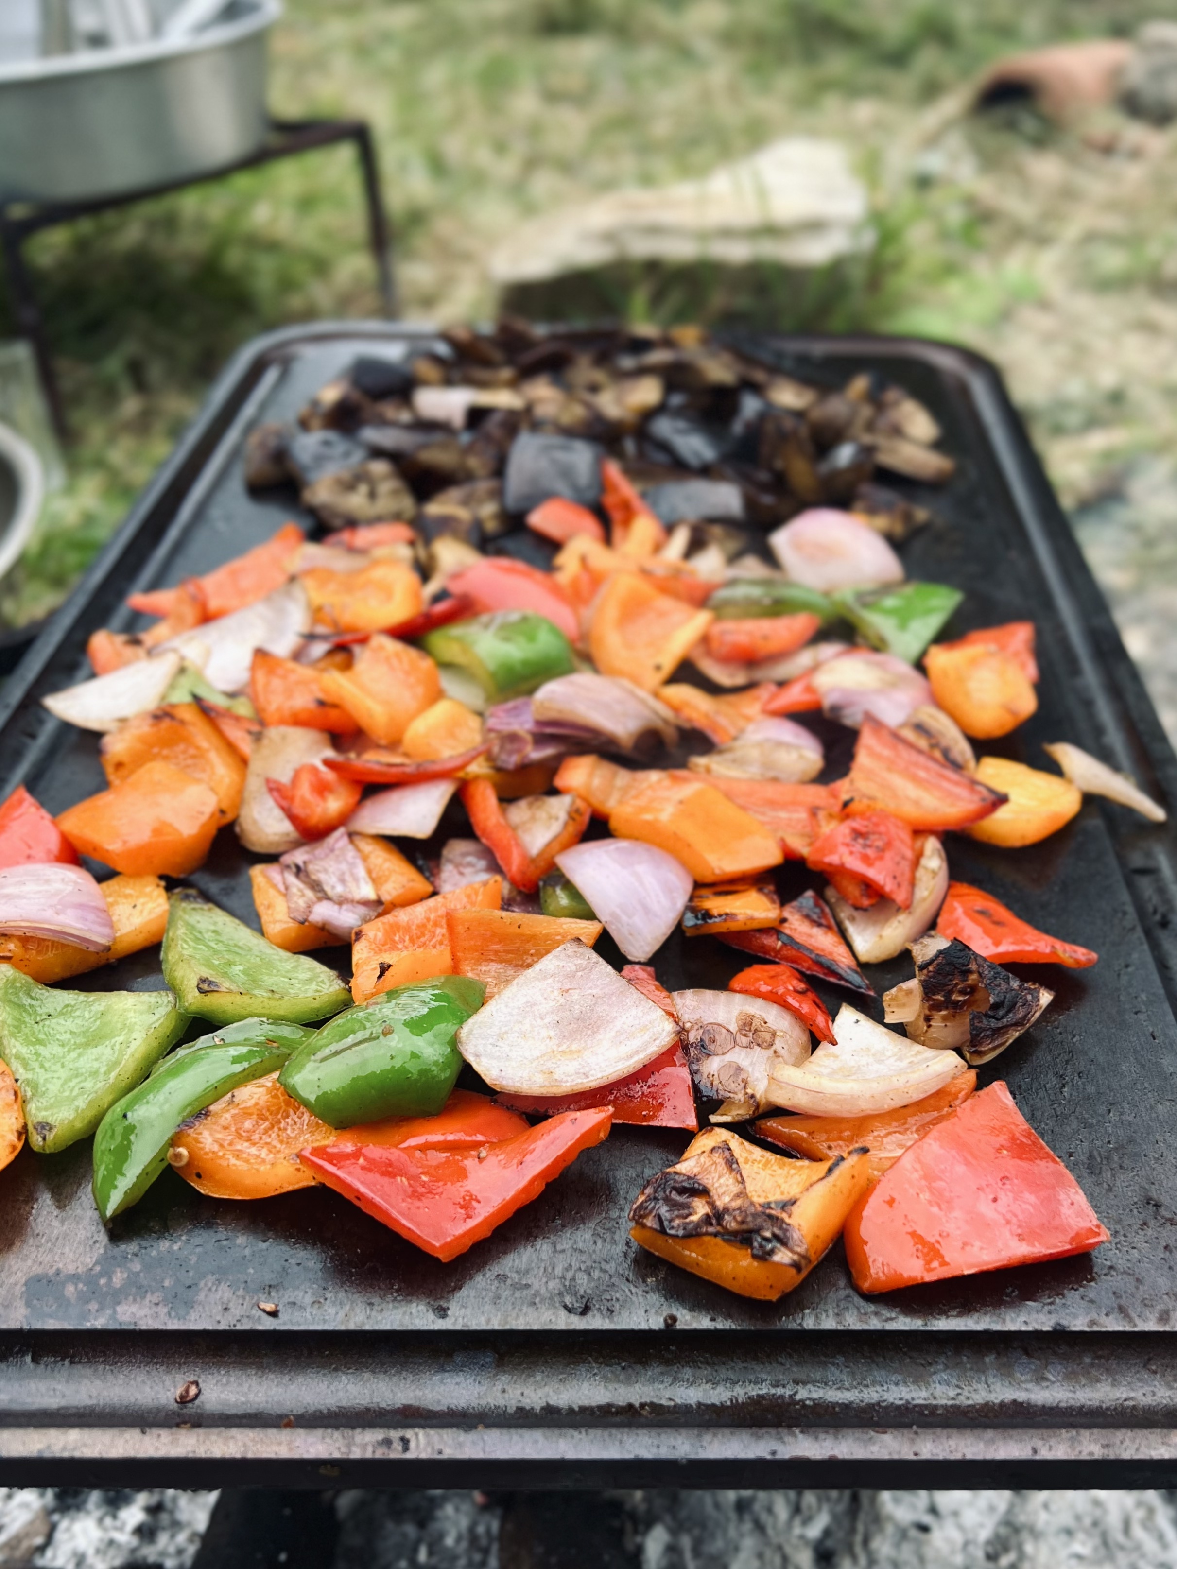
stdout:
<svg viewBox="0 0 1177 1569">
<path fill-rule="evenodd" d="M 954 1051 L 920 1047 L 847 1004 L 833 1020 L 833 1034 L 800 1067 L 774 1064 L 774 1106 L 816 1117 L 868 1117 L 910 1106 L 965 1070 Z"/>
</svg>

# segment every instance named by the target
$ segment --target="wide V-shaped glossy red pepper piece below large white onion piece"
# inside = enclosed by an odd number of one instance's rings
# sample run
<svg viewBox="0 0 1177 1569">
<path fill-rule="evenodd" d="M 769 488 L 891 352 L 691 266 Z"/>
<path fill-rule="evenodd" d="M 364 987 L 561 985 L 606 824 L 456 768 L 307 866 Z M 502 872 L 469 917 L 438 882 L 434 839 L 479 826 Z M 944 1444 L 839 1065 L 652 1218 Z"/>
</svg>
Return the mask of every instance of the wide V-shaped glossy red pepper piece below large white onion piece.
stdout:
<svg viewBox="0 0 1177 1569">
<path fill-rule="evenodd" d="M 449 1263 L 606 1139 L 610 1123 L 607 1109 L 568 1111 L 479 1149 L 328 1144 L 298 1158 L 366 1214 Z"/>
</svg>

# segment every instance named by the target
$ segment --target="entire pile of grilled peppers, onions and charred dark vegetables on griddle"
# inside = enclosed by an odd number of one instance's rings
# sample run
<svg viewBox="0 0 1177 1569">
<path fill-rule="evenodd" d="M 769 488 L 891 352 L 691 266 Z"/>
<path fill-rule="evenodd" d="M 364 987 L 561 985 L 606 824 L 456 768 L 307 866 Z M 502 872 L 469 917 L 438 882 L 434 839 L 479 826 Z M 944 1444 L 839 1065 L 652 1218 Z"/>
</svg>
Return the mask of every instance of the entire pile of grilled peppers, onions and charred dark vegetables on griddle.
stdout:
<svg viewBox="0 0 1177 1569">
<path fill-rule="evenodd" d="M 656 1125 L 691 1142 L 632 1238 L 745 1296 L 843 1232 L 865 1293 L 1105 1241 L 976 1089 L 1053 999 L 1004 967 L 1095 954 L 954 880 L 951 836 L 1164 811 L 1066 741 L 978 756 L 1037 709 L 1034 626 L 907 577 L 929 515 L 879 479 L 943 483 L 938 439 L 873 377 L 518 322 L 254 430 L 248 483 L 320 537 L 132 596 L 46 698 L 107 789 L 0 806 L 0 1166 L 93 1134 L 107 1222 L 171 1166 L 450 1260 Z M 261 934 L 184 882 L 218 835 Z M 664 988 L 676 927 L 738 951 L 725 990 Z M 155 943 L 160 990 L 55 988 Z"/>
</svg>

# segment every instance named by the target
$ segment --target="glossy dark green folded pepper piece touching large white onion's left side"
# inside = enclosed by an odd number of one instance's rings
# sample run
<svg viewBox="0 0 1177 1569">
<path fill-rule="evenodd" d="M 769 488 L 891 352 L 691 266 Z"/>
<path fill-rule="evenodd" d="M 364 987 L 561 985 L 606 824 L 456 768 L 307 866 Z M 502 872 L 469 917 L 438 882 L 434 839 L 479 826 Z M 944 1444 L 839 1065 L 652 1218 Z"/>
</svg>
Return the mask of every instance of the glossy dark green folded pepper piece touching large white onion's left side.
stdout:
<svg viewBox="0 0 1177 1569">
<path fill-rule="evenodd" d="M 293 1053 L 278 1083 L 333 1128 L 380 1117 L 435 1117 L 461 1067 L 455 1036 L 486 995 L 438 976 L 348 1007 Z"/>
</svg>

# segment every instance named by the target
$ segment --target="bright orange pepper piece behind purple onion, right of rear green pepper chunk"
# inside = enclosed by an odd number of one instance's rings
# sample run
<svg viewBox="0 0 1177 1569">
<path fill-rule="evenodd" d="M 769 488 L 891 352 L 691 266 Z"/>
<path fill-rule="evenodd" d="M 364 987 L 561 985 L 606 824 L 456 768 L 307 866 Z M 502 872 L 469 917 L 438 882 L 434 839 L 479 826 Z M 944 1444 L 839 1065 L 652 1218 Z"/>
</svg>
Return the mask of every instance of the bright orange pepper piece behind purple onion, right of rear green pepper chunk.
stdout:
<svg viewBox="0 0 1177 1569">
<path fill-rule="evenodd" d="M 634 573 L 618 573 L 601 588 L 588 629 L 588 653 L 604 676 L 625 676 L 656 692 L 714 621 L 661 593 Z"/>
</svg>

